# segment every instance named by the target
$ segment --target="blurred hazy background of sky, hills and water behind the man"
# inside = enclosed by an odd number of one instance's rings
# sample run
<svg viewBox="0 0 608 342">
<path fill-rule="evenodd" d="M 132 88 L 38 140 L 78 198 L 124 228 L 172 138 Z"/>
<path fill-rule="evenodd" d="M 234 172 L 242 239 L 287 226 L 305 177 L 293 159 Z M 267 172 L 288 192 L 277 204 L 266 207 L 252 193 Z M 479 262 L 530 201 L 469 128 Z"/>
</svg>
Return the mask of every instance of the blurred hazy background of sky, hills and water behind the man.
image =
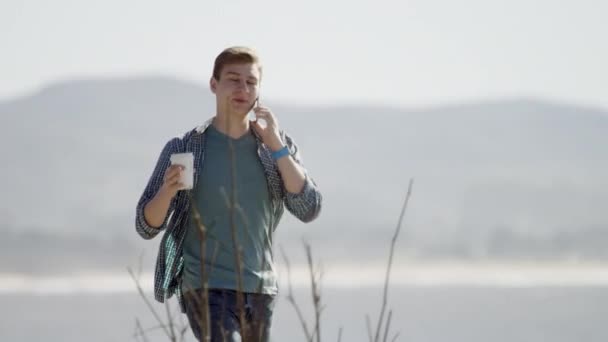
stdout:
<svg viewBox="0 0 608 342">
<path fill-rule="evenodd" d="M 278 246 L 312 318 L 302 240 L 324 270 L 324 339 L 367 340 L 410 178 L 391 336 L 606 341 L 606 13 L 591 0 L 0 1 L 0 340 L 129 341 L 136 319 L 158 325 L 127 273 L 141 269 L 152 300 L 160 238 L 136 234 L 135 205 L 165 142 L 214 114 L 215 56 L 247 45 L 262 102 L 324 195 L 316 221 L 286 214 L 276 232 L 275 341 L 304 340 Z"/>
</svg>

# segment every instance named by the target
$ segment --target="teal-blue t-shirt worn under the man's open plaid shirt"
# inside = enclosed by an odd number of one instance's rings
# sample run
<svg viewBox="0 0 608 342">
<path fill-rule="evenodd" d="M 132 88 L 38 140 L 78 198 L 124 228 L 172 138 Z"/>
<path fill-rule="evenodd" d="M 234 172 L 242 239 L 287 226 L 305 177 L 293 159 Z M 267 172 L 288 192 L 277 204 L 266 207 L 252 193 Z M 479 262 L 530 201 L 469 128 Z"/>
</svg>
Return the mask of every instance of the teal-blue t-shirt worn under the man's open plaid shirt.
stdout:
<svg viewBox="0 0 608 342">
<path fill-rule="evenodd" d="M 272 207 L 264 168 L 258 156 L 256 138 L 251 132 L 238 139 L 218 131 L 213 125 L 205 132 L 203 170 L 192 190 L 193 203 L 207 229 L 205 272 L 208 288 L 238 290 L 233 241 L 241 248 L 242 290 L 251 293 L 277 293 L 277 276 L 272 258 Z M 232 161 L 236 209 L 231 211 Z M 190 210 L 193 210 L 191 207 Z M 234 213 L 234 221 L 231 219 Z M 202 287 L 201 240 L 194 215 L 184 241 L 182 289 Z"/>
</svg>

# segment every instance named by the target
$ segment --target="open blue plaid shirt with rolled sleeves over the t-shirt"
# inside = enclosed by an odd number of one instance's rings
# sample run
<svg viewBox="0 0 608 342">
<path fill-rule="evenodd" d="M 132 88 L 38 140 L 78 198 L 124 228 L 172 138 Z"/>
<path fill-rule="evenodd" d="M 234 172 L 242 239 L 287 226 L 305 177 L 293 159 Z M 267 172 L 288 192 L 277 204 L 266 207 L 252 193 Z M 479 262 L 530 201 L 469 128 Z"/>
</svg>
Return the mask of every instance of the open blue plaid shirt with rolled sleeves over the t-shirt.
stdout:
<svg viewBox="0 0 608 342">
<path fill-rule="evenodd" d="M 165 170 L 170 166 L 171 154 L 181 152 L 192 152 L 194 154 L 194 186 L 197 182 L 197 174 L 203 169 L 205 156 L 205 130 L 211 124 L 212 119 L 205 122 L 180 138 L 173 138 L 163 148 L 154 168 L 154 172 L 137 203 L 135 229 L 144 239 L 152 239 L 161 231 L 164 231 L 158 256 L 156 259 L 156 270 L 154 273 L 154 297 L 157 301 L 164 303 L 173 294 L 177 295 L 182 312 L 185 312 L 183 294 L 181 291 L 181 271 L 184 265 L 182 248 L 184 236 L 190 222 L 190 196 L 188 191 L 179 191 L 171 201 L 167 216 L 163 224 L 154 228 L 146 223 L 144 218 L 144 206 L 156 195 L 161 185 Z M 284 206 L 294 216 L 303 222 L 315 219 L 321 210 L 321 193 L 317 185 L 305 171 L 306 180 L 304 188 L 298 194 L 285 190 L 276 162 L 271 157 L 270 149 L 264 145 L 255 130 L 252 129 L 258 142 L 258 156 L 264 167 L 268 187 L 271 194 L 274 227 L 283 215 Z M 294 160 L 301 165 L 301 157 L 297 145 L 284 132 L 281 138 L 288 147 Z"/>
</svg>

